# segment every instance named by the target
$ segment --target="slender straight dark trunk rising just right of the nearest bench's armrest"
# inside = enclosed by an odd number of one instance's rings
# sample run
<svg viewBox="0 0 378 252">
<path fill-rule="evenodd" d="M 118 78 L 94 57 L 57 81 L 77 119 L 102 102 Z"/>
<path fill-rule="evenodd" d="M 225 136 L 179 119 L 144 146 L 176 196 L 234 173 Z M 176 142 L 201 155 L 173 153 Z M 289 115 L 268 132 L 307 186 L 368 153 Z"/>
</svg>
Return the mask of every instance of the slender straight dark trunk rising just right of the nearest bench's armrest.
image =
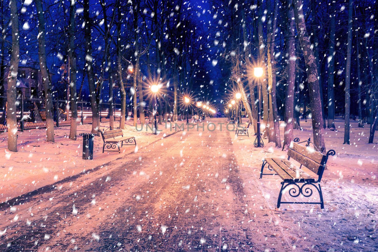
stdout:
<svg viewBox="0 0 378 252">
<path fill-rule="evenodd" d="M 350 144 L 350 61 L 352 57 L 352 12 L 353 2 L 349 0 L 348 10 L 348 45 L 347 65 L 345 69 L 345 117 L 344 117 L 344 144 Z"/>
</svg>

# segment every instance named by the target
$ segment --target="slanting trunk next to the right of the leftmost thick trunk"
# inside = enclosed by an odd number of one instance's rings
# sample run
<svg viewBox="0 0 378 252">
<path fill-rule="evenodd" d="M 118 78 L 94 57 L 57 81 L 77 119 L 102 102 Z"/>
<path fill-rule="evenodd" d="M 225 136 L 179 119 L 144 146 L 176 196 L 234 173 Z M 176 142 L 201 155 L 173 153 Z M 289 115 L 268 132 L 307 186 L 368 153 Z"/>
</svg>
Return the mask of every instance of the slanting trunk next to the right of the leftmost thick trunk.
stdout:
<svg viewBox="0 0 378 252">
<path fill-rule="evenodd" d="M 46 64 L 45 14 L 42 8 L 42 1 L 36 0 L 35 3 L 38 14 L 39 67 L 42 74 L 43 88 L 45 89 L 46 141 L 54 142 L 53 95 L 51 94 L 50 73 Z M 58 104 L 56 105 L 58 106 Z M 57 120 L 59 120 L 59 115 L 57 115 Z"/>
</svg>

